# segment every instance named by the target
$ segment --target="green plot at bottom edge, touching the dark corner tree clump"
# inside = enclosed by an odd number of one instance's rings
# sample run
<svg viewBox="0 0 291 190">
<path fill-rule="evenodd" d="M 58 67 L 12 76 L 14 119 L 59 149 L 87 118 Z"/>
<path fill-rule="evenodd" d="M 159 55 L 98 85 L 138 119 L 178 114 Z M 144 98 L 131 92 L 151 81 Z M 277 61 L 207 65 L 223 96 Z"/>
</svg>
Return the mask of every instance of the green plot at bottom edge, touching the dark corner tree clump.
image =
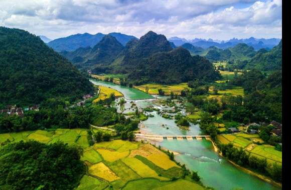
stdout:
<svg viewBox="0 0 291 190">
<path fill-rule="evenodd" d="M 97 190 L 97 189 L 103 189 L 108 184 L 100 179 L 97 179 L 95 177 L 84 175 L 80 181 L 80 185 L 76 188 L 77 190 Z"/>
</svg>

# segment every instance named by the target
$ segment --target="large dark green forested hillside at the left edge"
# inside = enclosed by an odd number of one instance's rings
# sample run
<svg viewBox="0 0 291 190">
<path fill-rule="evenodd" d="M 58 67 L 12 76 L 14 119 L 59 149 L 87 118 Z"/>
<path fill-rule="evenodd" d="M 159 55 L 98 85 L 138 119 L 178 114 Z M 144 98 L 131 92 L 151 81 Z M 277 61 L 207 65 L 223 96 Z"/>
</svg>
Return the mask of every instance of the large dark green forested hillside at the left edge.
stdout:
<svg viewBox="0 0 291 190">
<path fill-rule="evenodd" d="M 0 27 L 0 104 L 37 104 L 61 97 L 75 100 L 93 86 L 40 37 Z"/>
</svg>

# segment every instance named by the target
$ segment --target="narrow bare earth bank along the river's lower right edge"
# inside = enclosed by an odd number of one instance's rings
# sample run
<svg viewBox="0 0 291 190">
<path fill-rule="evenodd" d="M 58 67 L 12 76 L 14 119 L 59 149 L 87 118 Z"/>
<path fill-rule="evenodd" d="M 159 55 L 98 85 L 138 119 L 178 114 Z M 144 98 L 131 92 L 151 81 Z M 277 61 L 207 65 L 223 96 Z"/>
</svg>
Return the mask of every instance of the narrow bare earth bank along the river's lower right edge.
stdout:
<svg viewBox="0 0 291 190">
<path fill-rule="evenodd" d="M 219 149 L 218 149 L 217 145 L 215 144 L 215 142 L 214 142 L 213 140 L 211 140 L 211 143 L 212 143 L 212 145 L 213 145 L 213 149 L 214 149 L 215 152 L 217 152 L 221 157 L 223 157 L 224 159 L 226 159 L 227 161 L 229 161 L 231 164 L 233 164 L 233 165 L 236 166 L 237 168 L 243 170 L 244 172 L 246 172 L 246 173 L 248 173 L 248 174 L 251 174 L 251 175 L 253 175 L 253 176 L 259 177 L 260 179 L 263 179 L 264 181 L 267 181 L 268 183 L 271 183 L 271 184 L 273 184 L 273 185 L 276 185 L 276 186 L 282 187 L 282 183 L 276 182 L 276 181 L 272 180 L 271 178 L 269 178 L 269 177 L 267 177 L 267 176 L 261 175 L 261 174 L 259 174 L 259 173 L 257 173 L 257 172 L 254 172 L 254 171 L 250 170 L 250 169 L 247 169 L 247 168 L 245 168 L 245 167 L 242 167 L 242 166 L 236 164 L 235 162 L 233 162 L 233 161 L 227 159 L 226 157 L 224 157 L 224 156 L 222 155 L 221 152 L 219 152 Z"/>
</svg>

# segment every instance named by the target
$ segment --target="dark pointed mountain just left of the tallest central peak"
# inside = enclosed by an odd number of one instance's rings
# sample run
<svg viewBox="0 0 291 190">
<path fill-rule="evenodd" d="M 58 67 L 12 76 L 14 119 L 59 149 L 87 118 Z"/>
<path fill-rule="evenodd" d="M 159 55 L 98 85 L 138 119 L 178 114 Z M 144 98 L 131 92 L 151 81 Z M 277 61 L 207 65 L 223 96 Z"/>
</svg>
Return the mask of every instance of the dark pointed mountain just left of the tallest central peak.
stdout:
<svg viewBox="0 0 291 190">
<path fill-rule="evenodd" d="M 104 37 L 93 47 L 79 47 L 75 51 L 62 51 L 60 54 L 76 64 L 77 67 L 92 67 L 95 64 L 108 65 L 122 51 L 124 46 L 112 35 Z"/>
</svg>

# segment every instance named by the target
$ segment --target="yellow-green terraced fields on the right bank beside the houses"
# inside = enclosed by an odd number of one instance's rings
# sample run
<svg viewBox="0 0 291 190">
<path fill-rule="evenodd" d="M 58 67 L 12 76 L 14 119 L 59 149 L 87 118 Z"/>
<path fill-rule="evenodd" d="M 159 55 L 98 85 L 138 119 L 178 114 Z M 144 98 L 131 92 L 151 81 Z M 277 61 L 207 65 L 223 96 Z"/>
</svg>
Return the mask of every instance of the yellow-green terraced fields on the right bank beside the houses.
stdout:
<svg viewBox="0 0 291 190">
<path fill-rule="evenodd" d="M 266 158 L 268 162 L 282 163 L 282 152 L 278 151 L 272 145 L 268 144 L 255 144 L 254 142 L 263 142 L 259 138 L 258 134 L 227 134 L 227 135 L 217 135 L 217 139 L 224 144 L 232 142 L 236 147 L 242 147 L 246 151 L 250 152 L 251 155 L 257 156 L 259 158 Z"/>
</svg>

